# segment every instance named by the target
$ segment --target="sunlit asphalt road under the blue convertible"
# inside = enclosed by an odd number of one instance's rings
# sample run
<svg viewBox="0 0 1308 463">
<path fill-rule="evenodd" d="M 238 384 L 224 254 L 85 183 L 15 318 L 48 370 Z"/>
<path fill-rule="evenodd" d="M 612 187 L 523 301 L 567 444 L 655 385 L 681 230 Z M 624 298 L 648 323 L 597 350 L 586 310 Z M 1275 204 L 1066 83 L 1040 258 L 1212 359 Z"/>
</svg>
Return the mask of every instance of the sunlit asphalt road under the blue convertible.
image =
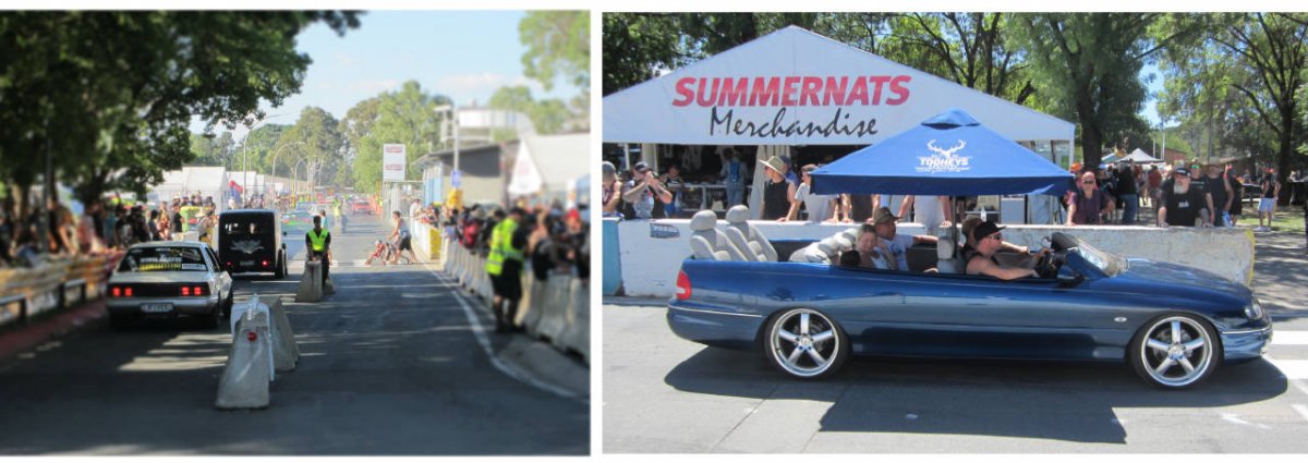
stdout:
<svg viewBox="0 0 1308 463">
<path fill-rule="evenodd" d="M 664 301 L 606 300 L 604 442 L 612 453 L 1305 453 L 1308 285 L 1301 235 L 1258 237 L 1267 360 L 1188 391 L 1125 365 L 853 358 L 783 378 L 759 352 L 671 334 Z"/>
</svg>

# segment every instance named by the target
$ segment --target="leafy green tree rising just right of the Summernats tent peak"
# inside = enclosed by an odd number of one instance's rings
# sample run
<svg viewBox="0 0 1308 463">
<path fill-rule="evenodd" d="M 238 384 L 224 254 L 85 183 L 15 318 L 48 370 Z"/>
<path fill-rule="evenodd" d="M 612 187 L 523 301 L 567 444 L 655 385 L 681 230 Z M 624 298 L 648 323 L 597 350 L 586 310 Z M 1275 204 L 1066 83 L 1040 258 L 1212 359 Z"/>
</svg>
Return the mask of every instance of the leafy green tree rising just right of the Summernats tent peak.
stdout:
<svg viewBox="0 0 1308 463">
<path fill-rule="evenodd" d="M 1097 166 L 1104 141 L 1147 129 L 1139 118 L 1144 60 L 1193 31 L 1162 39 L 1147 33 L 1160 14 L 1015 13 L 1008 44 L 1024 52 L 1033 84 L 1056 115 L 1074 118 L 1087 166 Z"/>
</svg>

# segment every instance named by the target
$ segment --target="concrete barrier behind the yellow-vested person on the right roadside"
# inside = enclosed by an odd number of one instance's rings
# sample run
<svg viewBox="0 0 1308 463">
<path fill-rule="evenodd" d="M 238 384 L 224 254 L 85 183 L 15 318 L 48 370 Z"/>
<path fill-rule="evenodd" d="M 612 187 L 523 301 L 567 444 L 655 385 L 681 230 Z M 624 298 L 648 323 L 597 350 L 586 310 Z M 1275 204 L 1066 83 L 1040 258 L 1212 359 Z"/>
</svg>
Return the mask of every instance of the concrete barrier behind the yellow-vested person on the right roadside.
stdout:
<svg viewBox="0 0 1308 463">
<path fill-rule="evenodd" d="M 446 241 L 445 273 L 463 288 L 490 301 L 490 280 L 485 258 L 476 256 L 462 245 Z M 525 266 L 527 267 L 527 266 Z M 522 301 L 518 319 L 527 335 L 549 341 L 564 352 L 576 352 L 590 362 L 590 285 L 565 272 L 552 272 L 545 281 L 523 268 Z M 485 306 L 489 310 L 489 306 Z"/>
</svg>

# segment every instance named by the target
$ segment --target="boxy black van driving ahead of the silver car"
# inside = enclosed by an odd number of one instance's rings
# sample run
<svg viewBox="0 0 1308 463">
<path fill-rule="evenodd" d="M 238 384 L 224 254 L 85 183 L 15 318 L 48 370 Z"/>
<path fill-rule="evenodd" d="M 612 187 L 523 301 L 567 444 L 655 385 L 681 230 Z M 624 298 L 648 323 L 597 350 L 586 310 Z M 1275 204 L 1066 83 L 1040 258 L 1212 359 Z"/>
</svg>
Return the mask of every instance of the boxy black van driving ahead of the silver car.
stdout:
<svg viewBox="0 0 1308 463">
<path fill-rule="evenodd" d="M 272 209 L 235 209 L 218 214 L 218 259 L 229 273 L 271 272 L 286 276 L 281 220 Z"/>
</svg>

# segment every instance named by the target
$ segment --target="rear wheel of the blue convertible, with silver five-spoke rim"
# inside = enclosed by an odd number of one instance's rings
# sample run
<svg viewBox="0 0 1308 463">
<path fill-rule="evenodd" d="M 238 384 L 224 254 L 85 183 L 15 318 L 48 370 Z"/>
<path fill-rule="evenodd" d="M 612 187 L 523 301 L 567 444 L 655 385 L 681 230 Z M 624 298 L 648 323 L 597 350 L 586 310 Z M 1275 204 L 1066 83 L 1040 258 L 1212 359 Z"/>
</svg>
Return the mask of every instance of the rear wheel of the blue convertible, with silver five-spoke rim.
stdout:
<svg viewBox="0 0 1308 463">
<path fill-rule="evenodd" d="M 849 336 L 827 314 L 787 309 L 768 319 L 763 354 L 791 378 L 829 378 L 849 360 Z"/>
</svg>

